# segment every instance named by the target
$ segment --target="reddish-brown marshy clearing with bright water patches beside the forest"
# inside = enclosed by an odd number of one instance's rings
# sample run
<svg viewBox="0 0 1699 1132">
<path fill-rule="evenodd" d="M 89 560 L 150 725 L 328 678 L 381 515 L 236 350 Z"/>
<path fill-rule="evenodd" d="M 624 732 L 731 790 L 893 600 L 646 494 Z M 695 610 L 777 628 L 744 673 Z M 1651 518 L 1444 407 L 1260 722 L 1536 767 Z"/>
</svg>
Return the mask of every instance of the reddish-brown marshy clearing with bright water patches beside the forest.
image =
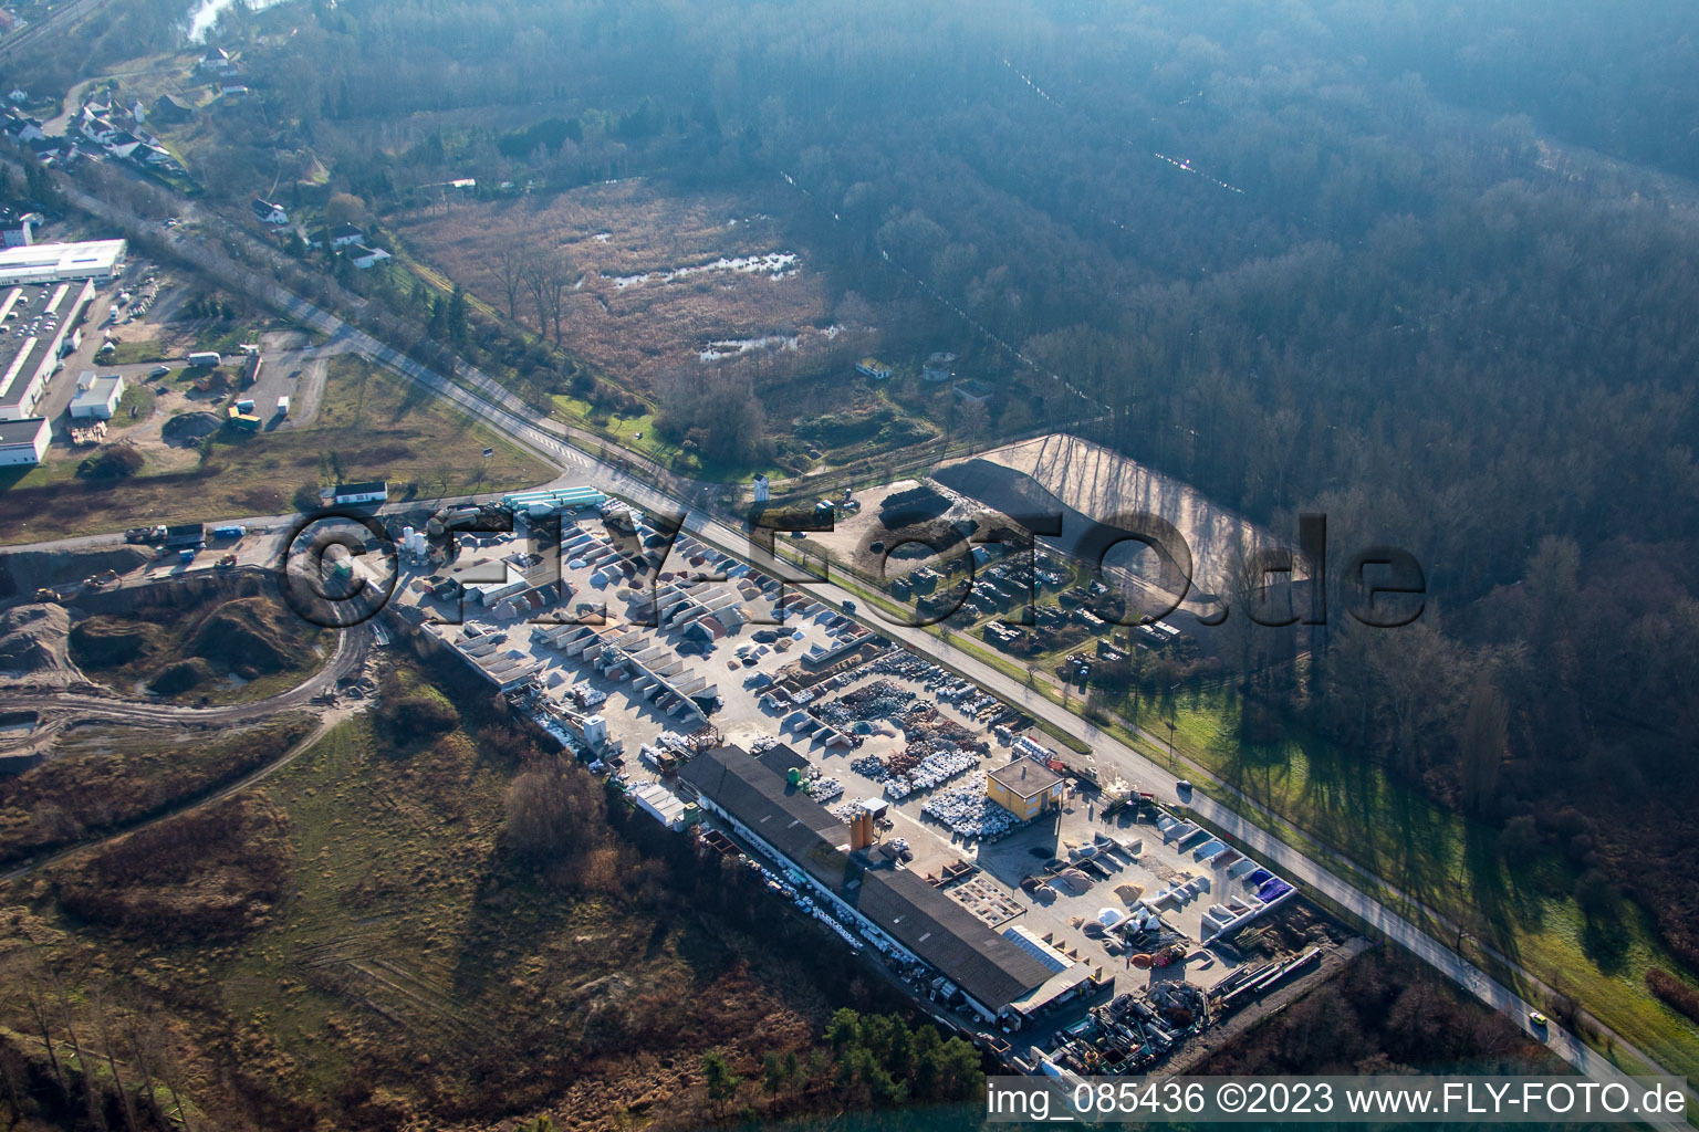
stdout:
<svg viewBox="0 0 1699 1132">
<path fill-rule="evenodd" d="M 618 382 L 652 390 L 668 370 L 695 365 L 720 339 L 800 334 L 800 356 L 833 345 L 824 280 L 785 226 L 763 214 L 778 204 L 732 192 L 673 193 L 647 182 L 590 185 L 552 199 L 481 202 L 449 212 L 420 210 L 392 219 L 420 260 L 440 268 L 479 299 L 508 314 L 503 249 L 532 248 L 566 256 L 581 277 L 567 292 L 562 345 Z M 605 239 L 601 238 L 605 236 Z M 797 253 L 795 273 L 712 270 L 676 280 L 656 275 L 766 253 Z M 652 273 L 618 287 L 615 278 Z M 540 326 L 533 297 L 513 290 L 513 312 Z M 795 360 L 792 350 L 770 356 Z"/>
</svg>

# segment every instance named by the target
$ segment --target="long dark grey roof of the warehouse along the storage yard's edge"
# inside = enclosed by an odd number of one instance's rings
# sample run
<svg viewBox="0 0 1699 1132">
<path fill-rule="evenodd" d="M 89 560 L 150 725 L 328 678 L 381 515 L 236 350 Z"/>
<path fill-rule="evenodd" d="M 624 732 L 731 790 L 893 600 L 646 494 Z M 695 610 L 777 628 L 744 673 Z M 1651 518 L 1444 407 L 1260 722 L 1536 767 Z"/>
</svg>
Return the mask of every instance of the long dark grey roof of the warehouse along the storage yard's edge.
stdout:
<svg viewBox="0 0 1699 1132">
<path fill-rule="evenodd" d="M 759 757 L 720 747 L 686 762 L 680 777 L 975 1001 L 1001 1010 L 1050 979 L 1045 964 L 912 872 L 866 869 L 839 849 L 846 825 L 787 784 L 793 765 L 807 760 L 785 745 Z"/>
</svg>

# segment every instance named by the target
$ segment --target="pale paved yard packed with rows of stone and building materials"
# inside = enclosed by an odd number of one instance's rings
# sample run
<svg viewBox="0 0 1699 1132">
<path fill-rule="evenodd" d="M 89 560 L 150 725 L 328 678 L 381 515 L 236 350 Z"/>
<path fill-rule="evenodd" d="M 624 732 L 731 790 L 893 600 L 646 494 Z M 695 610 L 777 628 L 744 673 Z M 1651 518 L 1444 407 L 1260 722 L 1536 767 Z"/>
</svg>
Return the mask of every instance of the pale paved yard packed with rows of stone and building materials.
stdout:
<svg viewBox="0 0 1699 1132">
<path fill-rule="evenodd" d="M 462 594 L 432 596 L 447 577 Z M 1070 781 L 1058 810 L 1016 821 L 985 798 L 985 776 L 1043 748 L 1019 713 L 688 535 L 668 552 L 641 519 L 583 513 L 554 557 L 523 526 L 464 538 L 450 569 L 406 592 L 442 621 L 430 631 L 503 687 L 532 689 L 571 742 L 600 716 L 593 765 L 630 786 L 671 786 L 675 760 L 703 745 L 785 743 L 816 801 L 844 816 L 883 801 L 885 850 L 999 930 L 1023 925 L 1123 979 L 1174 978 L 1132 967 L 1176 940 L 1199 986 L 1235 966 L 1199 945 L 1218 927 L 1211 906 L 1252 908 L 1256 862 L 1137 804 L 1104 818 L 1092 784 Z M 1147 901 L 1160 930 L 1128 932 Z"/>
</svg>

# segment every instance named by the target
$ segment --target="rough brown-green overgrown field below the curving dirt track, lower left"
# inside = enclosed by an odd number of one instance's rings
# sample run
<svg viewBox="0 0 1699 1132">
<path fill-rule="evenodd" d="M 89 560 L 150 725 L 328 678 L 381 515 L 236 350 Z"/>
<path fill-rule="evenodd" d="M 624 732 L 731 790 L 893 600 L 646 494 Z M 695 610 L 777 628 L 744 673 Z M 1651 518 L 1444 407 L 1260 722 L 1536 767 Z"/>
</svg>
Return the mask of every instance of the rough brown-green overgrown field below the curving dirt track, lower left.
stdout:
<svg viewBox="0 0 1699 1132">
<path fill-rule="evenodd" d="M 411 664 L 382 689 L 442 696 Z M 20 978 L 168 1020 L 194 1127 L 292 1132 L 698 1127 L 708 1051 L 748 1081 L 768 1052 L 807 1064 L 833 1006 L 894 1005 L 759 877 L 462 691 L 447 730 L 355 718 L 263 791 L 14 893 L 0 940 L 39 957 Z M 573 816 L 557 855 L 513 843 L 515 781 Z M 150 915 L 195 927 L 133 932 Z M 25 1032 L 24 1005 L 0 1023 Z"/>
</svg>

